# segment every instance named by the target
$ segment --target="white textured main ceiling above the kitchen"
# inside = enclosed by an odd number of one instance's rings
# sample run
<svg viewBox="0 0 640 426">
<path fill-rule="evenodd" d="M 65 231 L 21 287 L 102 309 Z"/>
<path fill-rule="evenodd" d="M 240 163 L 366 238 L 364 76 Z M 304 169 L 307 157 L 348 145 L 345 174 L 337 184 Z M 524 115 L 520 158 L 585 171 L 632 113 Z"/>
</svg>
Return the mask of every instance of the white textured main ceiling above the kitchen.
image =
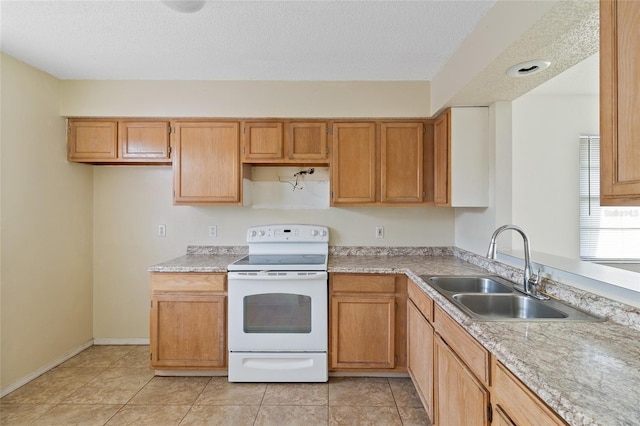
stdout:
<svg viewBox="0 0 640 426">
<path fill-rule="evenodd" d="M 431 80 L 493 3 L 2 0 L 1 47 L 60 79 Z"/>
</svg>

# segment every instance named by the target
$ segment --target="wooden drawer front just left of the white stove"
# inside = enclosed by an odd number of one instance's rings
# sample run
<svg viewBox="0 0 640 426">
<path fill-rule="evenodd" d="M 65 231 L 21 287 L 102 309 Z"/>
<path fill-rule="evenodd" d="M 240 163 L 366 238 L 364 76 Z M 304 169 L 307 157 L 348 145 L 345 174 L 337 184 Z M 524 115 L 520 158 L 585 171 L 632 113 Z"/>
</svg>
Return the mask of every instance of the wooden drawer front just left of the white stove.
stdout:
<svg viewBox="0 0 640 426">
<path fill-rule="evenodd" d="M 158 291 L 219 291 L 227 290 L 227 274 L 166 273 L 151 274 L 151 290 Z"/>
</svg>

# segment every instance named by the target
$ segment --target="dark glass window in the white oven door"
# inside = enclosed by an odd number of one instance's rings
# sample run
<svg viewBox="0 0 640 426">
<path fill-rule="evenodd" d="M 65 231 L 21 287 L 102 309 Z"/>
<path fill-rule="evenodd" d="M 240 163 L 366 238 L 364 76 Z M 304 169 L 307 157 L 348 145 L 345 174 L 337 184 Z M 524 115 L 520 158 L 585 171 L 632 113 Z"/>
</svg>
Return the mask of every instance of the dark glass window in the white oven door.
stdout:
<svg viewBox="0 0 640 426">
<path fill-rule="evenodd" d="M 311 297 L 265 293 L 244 297 L 245 333 L 311 333 Z"/>
</svg>

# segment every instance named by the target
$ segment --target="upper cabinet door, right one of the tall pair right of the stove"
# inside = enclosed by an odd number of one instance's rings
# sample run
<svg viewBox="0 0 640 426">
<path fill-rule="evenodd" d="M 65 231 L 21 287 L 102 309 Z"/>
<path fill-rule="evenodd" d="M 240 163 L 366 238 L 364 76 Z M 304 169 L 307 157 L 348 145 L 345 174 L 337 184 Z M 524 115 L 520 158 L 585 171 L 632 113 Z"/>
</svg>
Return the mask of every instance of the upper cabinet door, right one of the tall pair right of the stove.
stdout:
<svg viewBox="0 0 640 426">
<path fill-rule="evenodd" d="M 422 123 L 380 125 L 380 201 L 421 203 L 423 201 Z"/>
</svg>

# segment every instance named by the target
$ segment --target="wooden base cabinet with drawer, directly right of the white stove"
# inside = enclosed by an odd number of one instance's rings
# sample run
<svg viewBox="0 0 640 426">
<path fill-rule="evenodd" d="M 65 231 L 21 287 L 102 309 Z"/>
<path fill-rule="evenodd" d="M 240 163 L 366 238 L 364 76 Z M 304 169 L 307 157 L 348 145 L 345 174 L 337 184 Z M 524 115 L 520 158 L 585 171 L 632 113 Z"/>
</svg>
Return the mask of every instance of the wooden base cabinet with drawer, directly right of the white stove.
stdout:
<svg viewBox="0 0 640 426">
<path fill-rule="evenodd" d="M 331 274 L 329 368 L 406 371 L 406 277 Z"/>
</svg>

